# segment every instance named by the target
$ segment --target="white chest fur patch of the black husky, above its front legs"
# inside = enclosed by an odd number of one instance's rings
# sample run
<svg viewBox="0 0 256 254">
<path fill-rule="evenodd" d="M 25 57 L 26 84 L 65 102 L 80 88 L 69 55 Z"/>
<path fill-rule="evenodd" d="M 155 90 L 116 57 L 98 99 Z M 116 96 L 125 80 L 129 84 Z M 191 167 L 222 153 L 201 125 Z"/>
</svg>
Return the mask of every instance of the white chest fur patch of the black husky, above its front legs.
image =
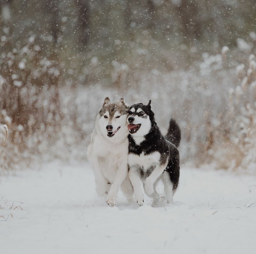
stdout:
<svg viewBox="0 0 256 254">
<path fill-rule="evenodd" d="M 143 168 L 144 171 L 147 171 L 148 168 L 152 166 L 156 166 L 156 164 L 160 163 L 160 153 L 154 152 L 145 155 L 141 153 L 140 155 L 130 153 L 128 156 L 128 164 L 130 167 L 139 167 Z"/>
</svg>

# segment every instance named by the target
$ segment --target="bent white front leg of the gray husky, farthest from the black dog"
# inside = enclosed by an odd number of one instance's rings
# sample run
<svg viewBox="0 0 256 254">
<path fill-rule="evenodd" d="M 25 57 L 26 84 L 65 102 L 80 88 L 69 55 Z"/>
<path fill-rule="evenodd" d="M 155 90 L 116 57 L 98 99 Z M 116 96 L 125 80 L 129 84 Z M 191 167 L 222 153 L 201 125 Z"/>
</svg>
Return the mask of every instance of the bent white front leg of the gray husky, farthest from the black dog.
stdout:
<svg viewBox="0 0 256 254">
<path fill-rule="evenodd" d="M 106 179 L 103 177 L 103 174 L 100 171 L 99 157 L 93 154 L 91 149 L 88 149 L 88 159 L 92 165 L 93 173 L 95 176 L 96 192 L 99 196 L 102 197 L 108 190 L 108 183 L 106 182 Z"/>
</svg>

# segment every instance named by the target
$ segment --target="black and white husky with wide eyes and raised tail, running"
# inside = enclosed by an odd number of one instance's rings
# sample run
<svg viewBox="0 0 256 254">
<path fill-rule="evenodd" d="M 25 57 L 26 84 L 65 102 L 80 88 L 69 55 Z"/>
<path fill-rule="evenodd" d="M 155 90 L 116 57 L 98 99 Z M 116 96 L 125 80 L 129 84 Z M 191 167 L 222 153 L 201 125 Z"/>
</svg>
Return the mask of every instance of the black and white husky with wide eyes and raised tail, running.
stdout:
<svg viewBox="0 0 256 254">
<path fill-rule="evenodd" d="M 172 203 L 180 175 L 178 146 L 181 135 L 178 124 L 171 119 L 164 137 L 156 125 L 151 101 L 148 105 L 132 105 L 127 122 L 130 133 L 128 175 L 134 188 L 135 200 L 139 205 L 144 202 L 140 178 L 145 192 L 153 198 L 152 205 L 156 205 L 159 199 L 156 184 L 162 179 L 167 202 Z"/>
</svg>

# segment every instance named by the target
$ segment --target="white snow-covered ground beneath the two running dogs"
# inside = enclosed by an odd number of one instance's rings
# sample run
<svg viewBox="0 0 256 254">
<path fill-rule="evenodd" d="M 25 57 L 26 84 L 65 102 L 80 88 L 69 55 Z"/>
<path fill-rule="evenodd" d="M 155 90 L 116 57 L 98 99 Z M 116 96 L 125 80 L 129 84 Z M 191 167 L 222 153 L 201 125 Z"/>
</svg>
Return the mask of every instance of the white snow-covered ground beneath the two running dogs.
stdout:
<svg viewBox="0 0 256 254">
<path fill-rule="evenodd" d="M 161 186 L 159 187 L 161 192 Z M 256 177 L 181 168 L 174 204 L 108 207 L 92 170 L 46 164 L 0 177 L 1 253 L 254 253 Z"/>
</svg>

